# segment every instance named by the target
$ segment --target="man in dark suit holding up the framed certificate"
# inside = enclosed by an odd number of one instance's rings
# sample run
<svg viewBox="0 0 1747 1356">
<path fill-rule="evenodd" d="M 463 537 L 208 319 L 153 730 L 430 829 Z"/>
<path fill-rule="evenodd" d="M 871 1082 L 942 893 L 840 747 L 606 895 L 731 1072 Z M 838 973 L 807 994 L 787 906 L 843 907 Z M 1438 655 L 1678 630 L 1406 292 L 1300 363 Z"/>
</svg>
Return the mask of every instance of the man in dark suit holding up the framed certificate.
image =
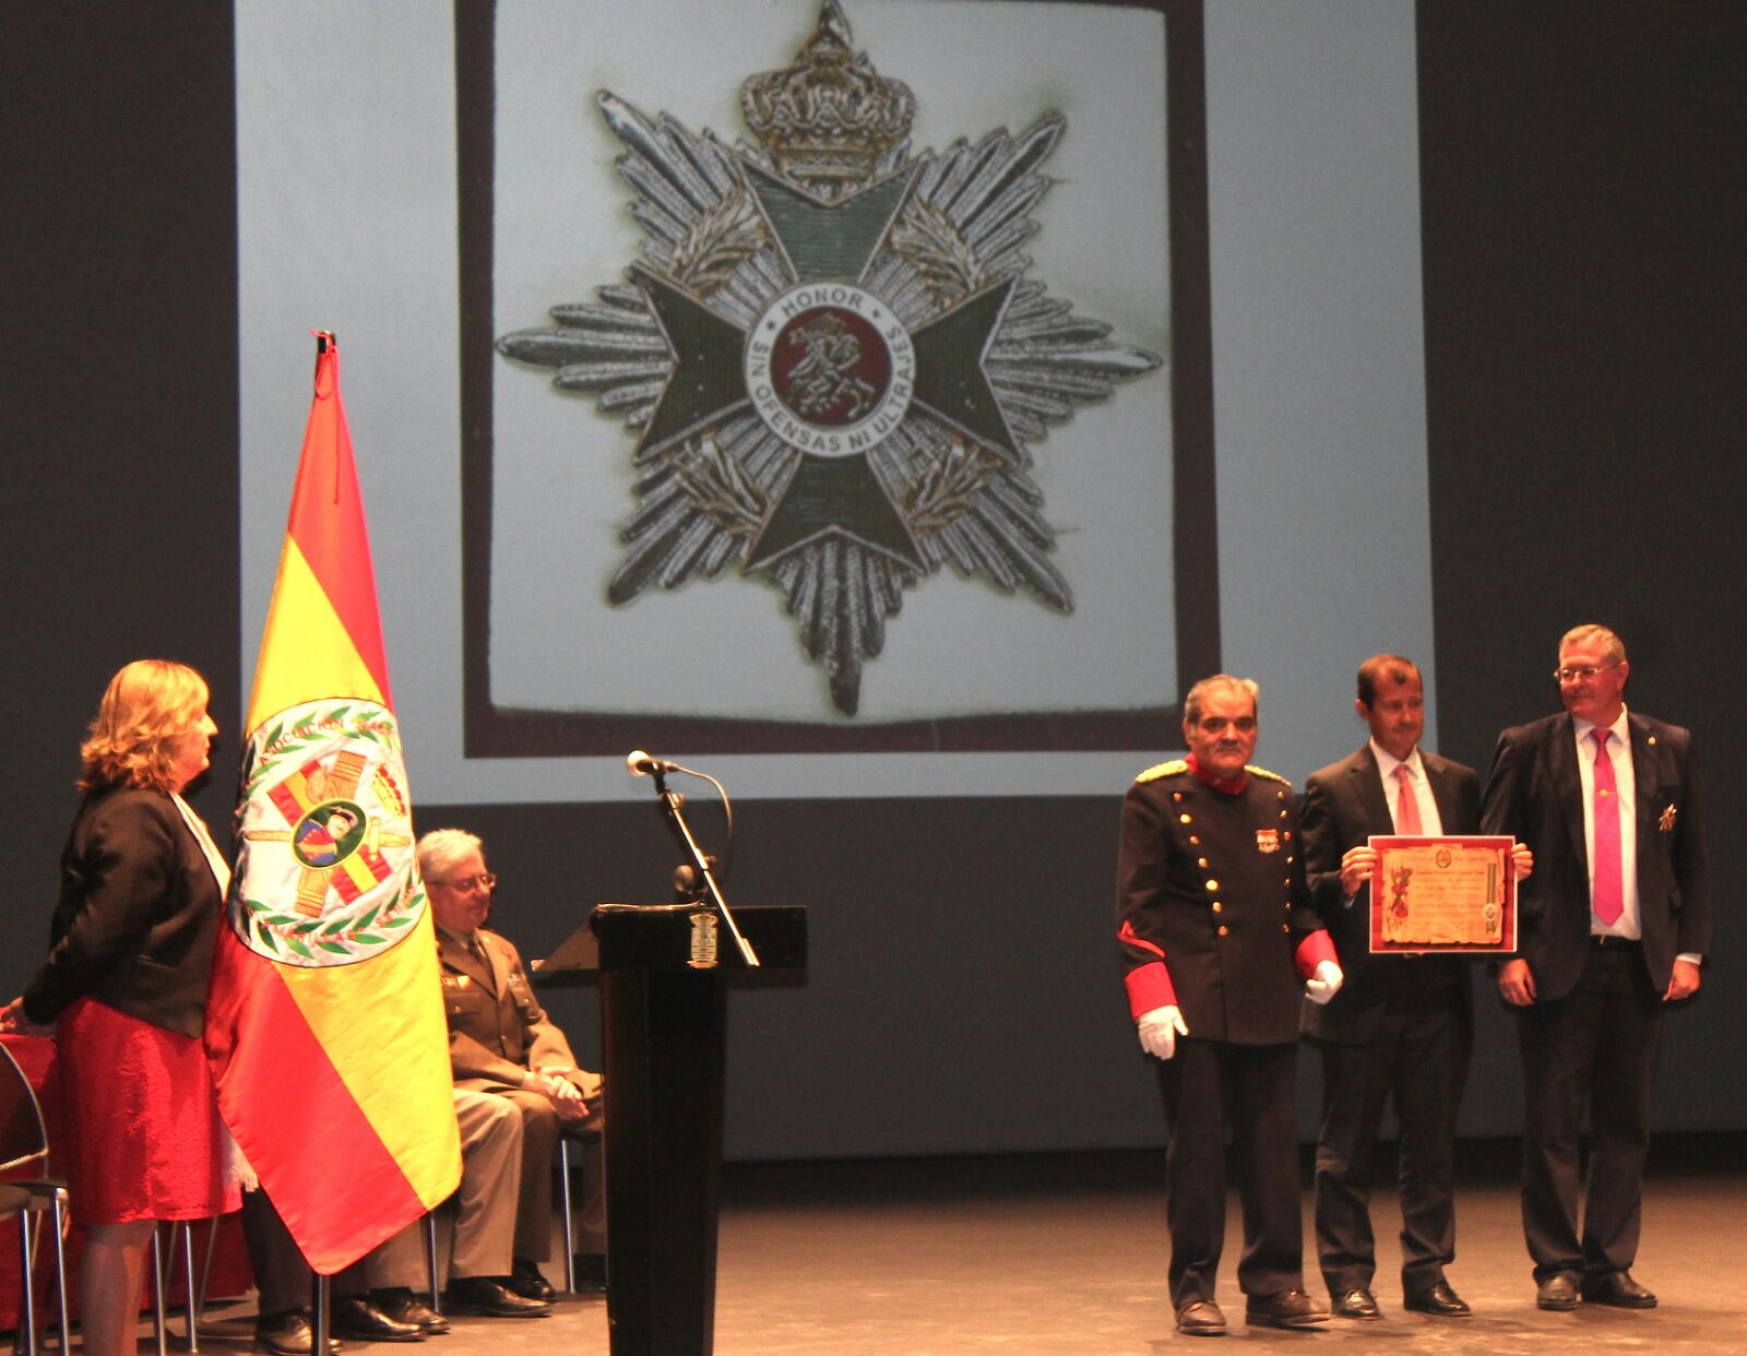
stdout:
<svg viewBox="0 0 1747 1356">
<path fill-rule="evenodd" d="M 1322 1131 L 1315 1152 L 1315 1239 L 1336 1318 L 1378 1319 L 1371 1293 L 1371 1155 L 1385 1103 L 1401 1124 L 1403 1305 L 1464 1318 L 1450 1288 L 1455 1258 L 1455 1110 L 1467 1080 L 1473 994 L 1457 956 L 1371 956 L 1373 834 L 1478 834 L 1474 769 L 1419 746 L 1426 729 L 1420 671 L 1401 655 L 1359 666 L 1354 702 L 1371 737 L 1310 774 L 1303 797 L 1305 874 L 1347 980 L 1326 1005 L 1307 1003 L 1303 1031 L 1322 1055 Z M 1525 874 L 1527 849 L 1516 868 Z"/>
</svg>

